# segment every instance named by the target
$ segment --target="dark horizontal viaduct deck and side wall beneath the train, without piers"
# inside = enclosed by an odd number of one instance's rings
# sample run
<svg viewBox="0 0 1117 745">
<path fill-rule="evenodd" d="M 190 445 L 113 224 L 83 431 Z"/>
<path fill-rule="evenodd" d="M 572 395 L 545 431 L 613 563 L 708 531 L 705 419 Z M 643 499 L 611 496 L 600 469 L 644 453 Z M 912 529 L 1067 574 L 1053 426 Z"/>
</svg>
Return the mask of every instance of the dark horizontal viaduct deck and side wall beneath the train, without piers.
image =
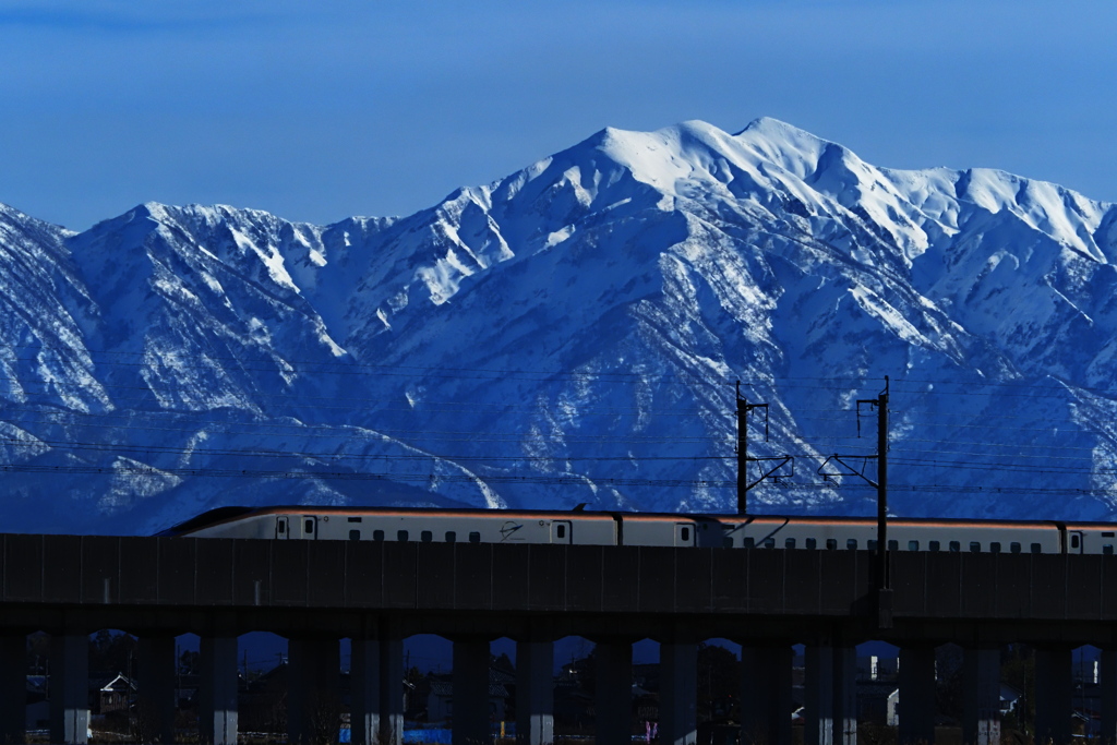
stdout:
<svg viewBox="0 0 1117 745">
<path fill-rule="evenodd" d="M 714 634 L 822 624 L 873 638 L 1001 624 L 1100 643 L 1117 621 L 1117 556 L 1098 555 L 894 553 L 887 633 L 875 629 L 866 551 L 9 534 L 0 556 L 0 625 L 25 628 L 192 628 L 225 613 L 245 630 L 392 617 L 497 633 L 542 618 L 571 633 L 686 621 Z"/>
</svg>

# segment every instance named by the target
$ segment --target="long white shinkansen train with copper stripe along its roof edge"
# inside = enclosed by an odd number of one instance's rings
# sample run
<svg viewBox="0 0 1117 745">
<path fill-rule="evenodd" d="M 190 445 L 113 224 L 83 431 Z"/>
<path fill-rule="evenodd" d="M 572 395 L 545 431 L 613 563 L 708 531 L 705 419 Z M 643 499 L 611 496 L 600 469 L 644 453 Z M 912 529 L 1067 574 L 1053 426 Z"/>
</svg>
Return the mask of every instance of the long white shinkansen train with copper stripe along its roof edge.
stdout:
<svg viewBox="0 0 1117 745">
<path fill-rule="evenodd" d="M 418 541 L 593 546 L 857 551 L 877 548 L 875 519 L 599 512 L 222 507 L 160 535 L 274 541 Z M 891 518 L 890 551 L 1113 554 L 1107 523 Z"/>
</svg>

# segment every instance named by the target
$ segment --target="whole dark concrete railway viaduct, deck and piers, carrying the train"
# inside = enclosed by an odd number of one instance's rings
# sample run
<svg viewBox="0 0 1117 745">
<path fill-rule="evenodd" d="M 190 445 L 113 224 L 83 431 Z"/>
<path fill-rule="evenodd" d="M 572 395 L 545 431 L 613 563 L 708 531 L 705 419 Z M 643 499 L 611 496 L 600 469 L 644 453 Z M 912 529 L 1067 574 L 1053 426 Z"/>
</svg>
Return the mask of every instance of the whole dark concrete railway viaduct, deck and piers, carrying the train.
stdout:
<svg viewBox="0 0 1117 745">
<path fill-rule="evenodd" d="M 894 553 L 891 628 L 876 557 L 784 551 L 0 535 L 0 742 L 21 742 L 26 634 L 51 634 L 50 742 L 88 720 L 88 634 L 140 639 L 142 705 L 173 742 L 174 637 L 201 637 L 201 737 L 237 742 L 237 638 L 289 639 L 290 742 L 352 640 L 352 735 L 401 741 L 402 642 L 454 642 L 455 743 L 489 742 L 489 642 L 517 642 L 522 739 L 552 739 L 553 642 L 598 644 L 598 742 L 629 742 L 632 642 L 660 642 L 660 742 L 696 737 L 697 642 L 742 644 L 743 743 L 790 745 L 792 646 L 806 648 L 805 745 L 857 742 L 856 644 L 900 647 L 900 743 L 933 743 L 935 646 L 965 650 L 963 742 L 1000 742 L 1000 647 L 1037 647 L 1037 739 L 1070 742 L 1071 650 L 1102 649 L 1102 738 L 1117 742 L 1117 556 Z"/>
</svg>

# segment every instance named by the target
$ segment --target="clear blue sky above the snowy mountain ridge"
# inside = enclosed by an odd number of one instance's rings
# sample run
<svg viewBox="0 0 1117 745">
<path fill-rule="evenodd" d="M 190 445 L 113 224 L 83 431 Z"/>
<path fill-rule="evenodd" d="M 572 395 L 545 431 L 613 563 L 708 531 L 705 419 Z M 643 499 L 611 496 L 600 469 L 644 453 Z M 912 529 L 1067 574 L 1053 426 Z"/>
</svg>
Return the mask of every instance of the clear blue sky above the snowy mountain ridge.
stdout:
<svg viewBox="0 0 1117 745">
<path fill-rule="evenodd" d="M 0 0 L 0 201 L 407 214 L 604 126 L 775 116 L 1117 201 L 1117 3 Z"/>
</svg>

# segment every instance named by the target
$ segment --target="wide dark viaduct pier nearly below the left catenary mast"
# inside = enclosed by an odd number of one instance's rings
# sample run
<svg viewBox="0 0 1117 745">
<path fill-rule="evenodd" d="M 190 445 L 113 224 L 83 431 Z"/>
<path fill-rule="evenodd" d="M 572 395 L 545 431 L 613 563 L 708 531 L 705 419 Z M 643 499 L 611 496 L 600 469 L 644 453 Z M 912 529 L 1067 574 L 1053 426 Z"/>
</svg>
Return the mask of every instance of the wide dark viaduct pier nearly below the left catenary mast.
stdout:
<svg viewBox="0 0 1117 745">
<path fill-rule="evenodd" d="M 742 745 L 791 745 L 791 667 L 790 644 L 742 644 Z"/>
</svg>

